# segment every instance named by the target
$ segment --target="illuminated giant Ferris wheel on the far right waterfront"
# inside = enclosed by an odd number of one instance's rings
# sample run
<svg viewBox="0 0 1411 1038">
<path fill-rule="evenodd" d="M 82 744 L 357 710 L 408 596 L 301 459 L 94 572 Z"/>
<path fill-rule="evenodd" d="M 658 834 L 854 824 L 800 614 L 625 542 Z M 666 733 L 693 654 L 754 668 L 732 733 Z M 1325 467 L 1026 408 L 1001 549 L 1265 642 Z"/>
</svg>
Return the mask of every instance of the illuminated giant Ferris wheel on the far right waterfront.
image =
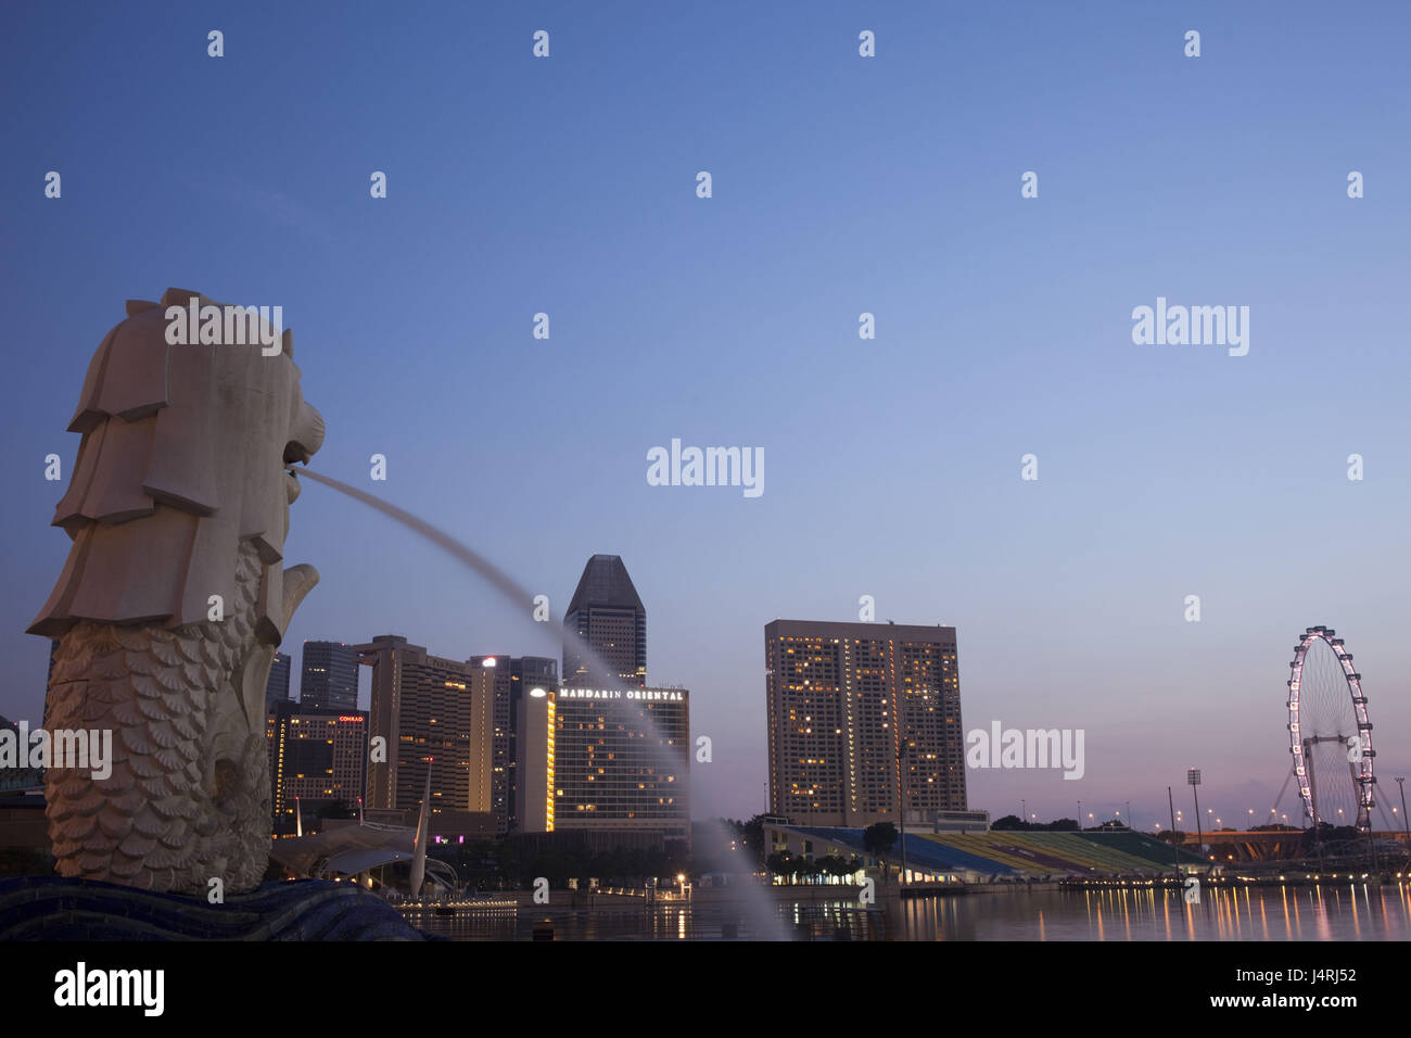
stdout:
<svg viewBox="0 0 1411 1038">
<path fill-rule="evenodd" d="M 1377 780 L 1371 720 L 1352 652 L 1331 627 L 1309 627 L 1288 664 L 1288 753 L 1314 830 L 1321 823 L 1371 828 Z"/>
</svg>

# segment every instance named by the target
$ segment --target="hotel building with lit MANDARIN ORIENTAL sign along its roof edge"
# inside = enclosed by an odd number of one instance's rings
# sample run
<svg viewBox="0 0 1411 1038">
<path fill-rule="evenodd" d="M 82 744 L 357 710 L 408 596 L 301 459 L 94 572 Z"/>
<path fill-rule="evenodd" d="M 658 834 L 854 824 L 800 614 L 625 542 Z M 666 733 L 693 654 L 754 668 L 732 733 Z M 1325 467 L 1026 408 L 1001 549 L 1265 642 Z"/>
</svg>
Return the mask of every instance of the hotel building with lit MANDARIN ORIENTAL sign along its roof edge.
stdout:
<svg viewBox="0 0 1411 1038">
<path fill-rule="evenodd" d="M 690 839 L 690 692 L 563 688 L 556 699 L 555 830 Z"/>
</svg>

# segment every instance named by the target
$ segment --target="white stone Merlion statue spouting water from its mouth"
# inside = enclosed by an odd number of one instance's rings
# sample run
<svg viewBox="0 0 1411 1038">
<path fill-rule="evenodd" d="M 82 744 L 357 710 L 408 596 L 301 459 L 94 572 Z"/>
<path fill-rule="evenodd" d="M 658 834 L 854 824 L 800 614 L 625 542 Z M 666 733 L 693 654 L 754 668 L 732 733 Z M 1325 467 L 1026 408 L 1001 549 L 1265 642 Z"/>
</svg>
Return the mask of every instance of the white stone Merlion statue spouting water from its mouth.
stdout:
<svg viewBox="0 0 1411 1038">
<path fill-rule="evenodd" d="M 102 780 L 48 770 L 66 877 L 205 894 L 213 878 L 251 890 L 268 864 L 265 682 L 319 579 L 282 568 L 286 469 L 319 449 L 323 419 L 289 332 L 254 316 L 254 342 L 233 342 L 229 318 L 224 336 L 219 319 L 172 335 L 231 309 L 237 330 L 254 314 L 175 288 L 130 301 L 69 424 L 83 441 L 54 524 L 73 544 L 30 631 L 59 640 L 45 729 L 110 729 L 113 761 Z"/>
</svg>

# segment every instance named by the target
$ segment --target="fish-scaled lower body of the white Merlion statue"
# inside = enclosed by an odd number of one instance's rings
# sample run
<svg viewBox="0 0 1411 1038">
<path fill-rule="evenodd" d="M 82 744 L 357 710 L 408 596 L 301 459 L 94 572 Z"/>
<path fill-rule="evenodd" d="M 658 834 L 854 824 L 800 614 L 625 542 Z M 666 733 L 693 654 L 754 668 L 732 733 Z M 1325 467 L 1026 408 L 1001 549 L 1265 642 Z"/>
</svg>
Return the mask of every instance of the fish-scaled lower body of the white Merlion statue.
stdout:
<svg viewBox="0 0 1411 1038">
<path fill-rule="evenodd" d="M 240 674 L 254 628 L 260 559 L 237 561 L 223 620 L 176 628 L 85 620 L 59 641 L 47 726 L 111 732 L 111 774 L 49 768 L 58 871 L 154 891 L 258 885 L 268 861 L 264 730 L 250 730 Z"/>
</svg>

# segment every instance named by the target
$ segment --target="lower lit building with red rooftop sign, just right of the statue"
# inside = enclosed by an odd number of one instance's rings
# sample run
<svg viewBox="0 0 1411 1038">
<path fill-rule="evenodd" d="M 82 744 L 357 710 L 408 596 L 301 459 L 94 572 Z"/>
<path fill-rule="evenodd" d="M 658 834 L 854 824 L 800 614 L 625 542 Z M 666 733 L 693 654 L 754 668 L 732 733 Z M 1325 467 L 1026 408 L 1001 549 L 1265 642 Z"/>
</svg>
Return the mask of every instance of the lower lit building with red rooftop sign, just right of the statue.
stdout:
<svg viewBox="0 0 1411 1038">
<path fill-rule="evenodd" d="M 323 806 L 357 811 L 367 777 L 365 713 L 305 712 L 285 700 L 275 703 L 265 724 L 277 835 L 295 832 L 295 799 L 308 828 Z"/>
</svg>

